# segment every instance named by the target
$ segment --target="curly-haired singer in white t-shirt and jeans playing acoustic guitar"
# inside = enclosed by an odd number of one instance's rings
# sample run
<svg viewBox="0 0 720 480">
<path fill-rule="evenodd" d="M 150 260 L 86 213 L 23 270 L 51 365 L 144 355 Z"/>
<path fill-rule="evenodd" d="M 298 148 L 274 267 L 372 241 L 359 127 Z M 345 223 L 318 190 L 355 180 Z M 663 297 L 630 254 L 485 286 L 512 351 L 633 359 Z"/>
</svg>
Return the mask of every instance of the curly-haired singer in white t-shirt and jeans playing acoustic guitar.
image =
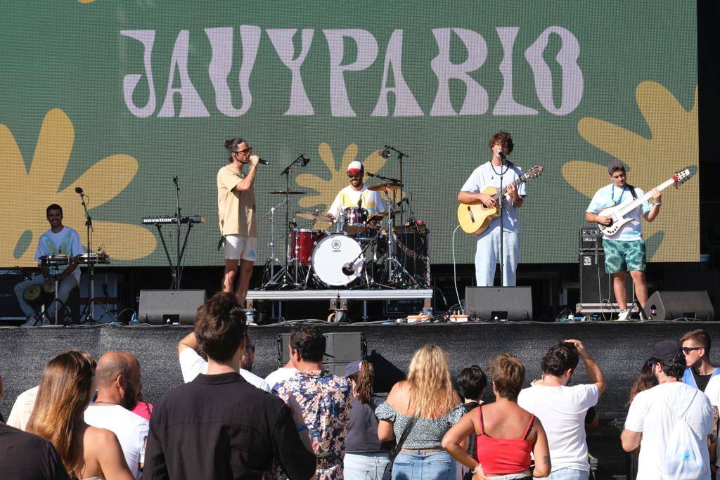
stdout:
<svg viewBox="0 0 720 480">
<path fill-rule="evenodd" d="M 508 132 L 497 132 L 490 137 L 492 158 L 475 168 L 462 186 L 457 199 L 464 204 L 475 201 L 482 202 L 485 207 L 499 207 L 492 196 L 482 191 L 492 186 L 500 191 L 507 187 L 503 200 L 503 214 L 492 219 L 487 230 L 477 237 L 475 250 L 475 279 L 477 286 L 492 286 L 495 280 L 495 266 L 503 251 L 503 286 L 516 285 L 516 272 L 520 259 L 520 218 L 518 209 L 523 206 L 526 196 L 525 184 L 517 187 L 513 181 L 523 174 L 522 168 L 516 166 L 505 155 L 513 151 L 513 137 Z M 500 231 L 503 231 L 501 237 Z M 502 242 L 502 249 L 500 248 Z"/>
</svg>

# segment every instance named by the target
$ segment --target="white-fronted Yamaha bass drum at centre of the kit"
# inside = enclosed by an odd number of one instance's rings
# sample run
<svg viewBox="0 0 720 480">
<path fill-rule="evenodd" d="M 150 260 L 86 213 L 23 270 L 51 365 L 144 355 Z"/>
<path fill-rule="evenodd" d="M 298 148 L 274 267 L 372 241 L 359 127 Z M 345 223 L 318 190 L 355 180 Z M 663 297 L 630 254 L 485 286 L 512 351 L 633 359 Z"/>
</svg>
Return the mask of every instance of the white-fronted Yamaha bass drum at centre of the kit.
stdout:
<svg viewBox="0 0 720 480">
<path fill-rule="evenodd" d="M 328 235 L 312 250 L 312 271 L 325 286 L 348 286 L 359 279 L 363 271 L 365 259 L 361 251 L 360 244 L 352 237 L 342 233 Z M 351 262 L 348 269 L 346 264 Z M 346 271 L 343 272 L 343 268 Z"/>
</svg>

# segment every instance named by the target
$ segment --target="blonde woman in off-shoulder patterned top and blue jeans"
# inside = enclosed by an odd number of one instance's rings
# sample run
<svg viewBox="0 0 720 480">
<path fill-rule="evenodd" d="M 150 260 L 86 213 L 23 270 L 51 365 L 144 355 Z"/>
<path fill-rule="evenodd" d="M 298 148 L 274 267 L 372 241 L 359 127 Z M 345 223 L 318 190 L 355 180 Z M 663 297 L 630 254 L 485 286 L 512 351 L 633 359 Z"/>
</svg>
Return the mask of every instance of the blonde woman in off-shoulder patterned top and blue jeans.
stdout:
<svg viewBox="0 0 720 480">
<path fill-rule="evenodd" d="M 437 345 L 423 345 L 410 361 L 408 379 L 397 382 L 375 409 L 381 441 L 400 439 L 417 417 L 392 467 L 392 479 L 450 480 L 455 462 L 441 440 L 465 409 L 452 388 L 448 358 Z"/>
</svg>

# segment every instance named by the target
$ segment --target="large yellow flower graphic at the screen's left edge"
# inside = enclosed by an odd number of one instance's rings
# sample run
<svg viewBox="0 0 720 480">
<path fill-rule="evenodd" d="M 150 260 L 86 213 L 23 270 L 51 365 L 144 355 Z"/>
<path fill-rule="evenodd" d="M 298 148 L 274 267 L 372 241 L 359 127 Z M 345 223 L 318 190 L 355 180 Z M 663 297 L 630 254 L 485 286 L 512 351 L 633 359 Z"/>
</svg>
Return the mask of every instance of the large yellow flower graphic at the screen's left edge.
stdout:
<svg viewBox="0 0 720 480">
<path fill-rule="evenodd" d="M 117 196 L 138 172 L 135 158 L 111 155 L 60 191 L 74 139 L 75 130 L 66 114 L 60 109 L 50 110 L 43 119 L 27 171 L 12 132 L 0 124 L 0 158 L 6 172 L 4 180 L 0 179 L 0 205 L 5 225 L 11 229 L 5 234 L 9 241 L 0 244 L 0 265 L 35 264 L 37 239 L 49 228 L 45 219 L 45 207 L 49 204 L 63 207 L 63 224 L 78 230 L 85 243 L 85 215 L 75 187 L 82 186 L 90 198 L 89 209 L 94 209 Z M 113 259 L 135 260 L 155 250 L 155 236 L 143 227 L 100 219 L 93 219 L 93 225 L 94 247 L 104 245 Z M 128 241 L 130 238 L 132 242 Z"/>
</svg>

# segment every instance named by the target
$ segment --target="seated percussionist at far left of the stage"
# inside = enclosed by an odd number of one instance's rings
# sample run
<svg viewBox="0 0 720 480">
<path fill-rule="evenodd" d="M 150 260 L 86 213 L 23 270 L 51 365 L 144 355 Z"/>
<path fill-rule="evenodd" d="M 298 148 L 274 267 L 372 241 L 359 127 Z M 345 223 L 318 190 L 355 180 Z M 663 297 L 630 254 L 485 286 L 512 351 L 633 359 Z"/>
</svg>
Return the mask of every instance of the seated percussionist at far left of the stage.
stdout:
<svg viewBox="0 0 720 480">
<path fill-rule="evenodd" d="M 48 319 L 55 314 L 55 302 L 48 308 L 48 317 L 42 318 L 42 314 L 35 312 L 22 294 L 30 285 L 42 285 L 45 279 L 53 278 L 55 269 L 60 272 L 58 280 L 60 286 L 58 289 L 58 299 L 63 303 L 67 301 L 70 292 L 80 283 L 80 268 L 77 261 L 74 260 L 76 255 L 84 253 L 83 245 L 80 241 L 80 235 L 71 227 L 63 225 L 63 207 L 58 204 L 52 204 L 45 210 L 50 223 L 50 230 L 40 235 L 37 241 L 37 250 L 35 250 L 35 261 L 40 261 L 40 257 L 44 255 L 68 255 L 71 259 L 69 265 L 53 267 L 52 271 L 48 266 L 42 266 L 42 274 L 36 275 L 30 280 L 21 281 L 15 285 L 15 296 L 20 304 L 22 312 L 27 316 L 27 322 L 23 326 L 48 325 Z"/>
</svg>

